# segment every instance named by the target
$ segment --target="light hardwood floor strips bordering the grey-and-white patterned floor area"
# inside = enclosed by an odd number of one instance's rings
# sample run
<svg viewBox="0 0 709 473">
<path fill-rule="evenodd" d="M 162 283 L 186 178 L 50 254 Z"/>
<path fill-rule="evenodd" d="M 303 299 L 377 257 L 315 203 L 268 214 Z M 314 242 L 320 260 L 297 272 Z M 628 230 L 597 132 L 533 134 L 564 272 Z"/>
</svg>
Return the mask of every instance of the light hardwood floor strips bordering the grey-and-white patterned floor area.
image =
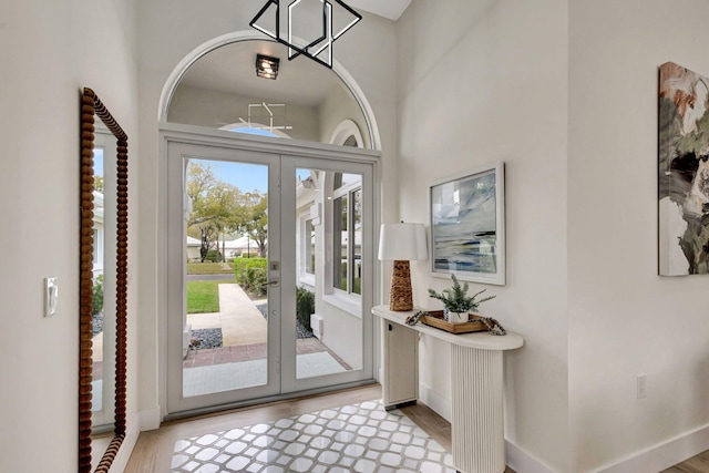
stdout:
<svg viewBox="0 0 709 473">
<path fill-rule="evenodd" d="M 125 473 L 169 472 L 173 449 L 175 442 L 181 439 L 261 422 L 273 422 L 372 399 L 381 399 L 381 385 L 372 384 L 333 393 L 242 408 L 188 420 L 166 422 L 158 430 L 141 433 Z M 451 424 L 449 422 L 422 403 L 402 408 L 401 411 L 439 442 L 441 446 L 449 452 L 451 451 Z M 507 467 L 505 473 L 515 472 Z M 709 451 L 661 473 L 709 473 Z"/>
</svg>

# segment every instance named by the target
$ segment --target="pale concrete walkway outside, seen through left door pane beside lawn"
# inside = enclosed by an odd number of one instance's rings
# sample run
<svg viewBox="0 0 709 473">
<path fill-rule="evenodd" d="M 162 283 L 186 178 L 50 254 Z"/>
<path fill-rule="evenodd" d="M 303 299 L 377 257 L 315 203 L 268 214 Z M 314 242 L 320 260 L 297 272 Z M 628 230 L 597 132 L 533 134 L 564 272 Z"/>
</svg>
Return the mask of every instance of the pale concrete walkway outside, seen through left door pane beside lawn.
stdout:
<svg viewBox="0 0 709 473">
<path fill-rule="evenodd" d="M 187 323 L 193 330 L 222 329 L 222 345 L 266 343 L 267 322 L 256 305 L 237 284 L 219 285 L 219 311 L 188 313 Z"/>
</svg>

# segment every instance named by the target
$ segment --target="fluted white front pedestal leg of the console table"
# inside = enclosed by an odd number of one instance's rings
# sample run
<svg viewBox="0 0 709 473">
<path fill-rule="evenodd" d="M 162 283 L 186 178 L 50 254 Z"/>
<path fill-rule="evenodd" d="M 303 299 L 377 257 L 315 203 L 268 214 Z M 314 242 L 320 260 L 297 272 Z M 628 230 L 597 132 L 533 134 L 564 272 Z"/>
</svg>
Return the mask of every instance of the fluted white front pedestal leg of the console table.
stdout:
<svg viewBox="0 0 709 473">
<path fill-rule="evenodd" d="M 502 357 L 451 345 L 453 464 L 460 472 L 505 471 Z"/>
</svg>

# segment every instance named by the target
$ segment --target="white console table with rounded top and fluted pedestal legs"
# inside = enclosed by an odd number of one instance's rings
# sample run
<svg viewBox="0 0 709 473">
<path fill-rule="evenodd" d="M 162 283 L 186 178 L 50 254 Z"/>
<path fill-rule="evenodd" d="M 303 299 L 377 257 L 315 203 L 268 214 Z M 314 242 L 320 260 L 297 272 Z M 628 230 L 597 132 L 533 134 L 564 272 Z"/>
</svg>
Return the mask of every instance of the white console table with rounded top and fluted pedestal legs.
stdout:
<svg viewBox="0 0 709 473">
<path fill-rule="evenodd" d="M 522 347 L 516 333 L 487 331 L 453 335 L 419 322 L 405 323 L 415 311 L 394 312 L 377 306 L 381 319 L 381 380 L 384 408 L 414 402 L 419 393 L 418 333 L 451 345 L 453 465 L 464 473 L 505 471 L 503 423 L 503 351 Z"/>
</svg>

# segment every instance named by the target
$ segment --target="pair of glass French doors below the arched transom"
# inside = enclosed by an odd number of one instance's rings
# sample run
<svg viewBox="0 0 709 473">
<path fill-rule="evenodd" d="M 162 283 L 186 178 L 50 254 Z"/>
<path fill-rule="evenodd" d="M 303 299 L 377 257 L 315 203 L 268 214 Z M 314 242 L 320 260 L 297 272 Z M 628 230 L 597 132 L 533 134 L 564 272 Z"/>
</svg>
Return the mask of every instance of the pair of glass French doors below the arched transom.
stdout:
<svg viewBox="0 0 709 473">
<path fill-rule="evenodd" d="M 167 142 L 171 414 L 373 378 L 373 162 L 238 143 Z"/>
</svg>

